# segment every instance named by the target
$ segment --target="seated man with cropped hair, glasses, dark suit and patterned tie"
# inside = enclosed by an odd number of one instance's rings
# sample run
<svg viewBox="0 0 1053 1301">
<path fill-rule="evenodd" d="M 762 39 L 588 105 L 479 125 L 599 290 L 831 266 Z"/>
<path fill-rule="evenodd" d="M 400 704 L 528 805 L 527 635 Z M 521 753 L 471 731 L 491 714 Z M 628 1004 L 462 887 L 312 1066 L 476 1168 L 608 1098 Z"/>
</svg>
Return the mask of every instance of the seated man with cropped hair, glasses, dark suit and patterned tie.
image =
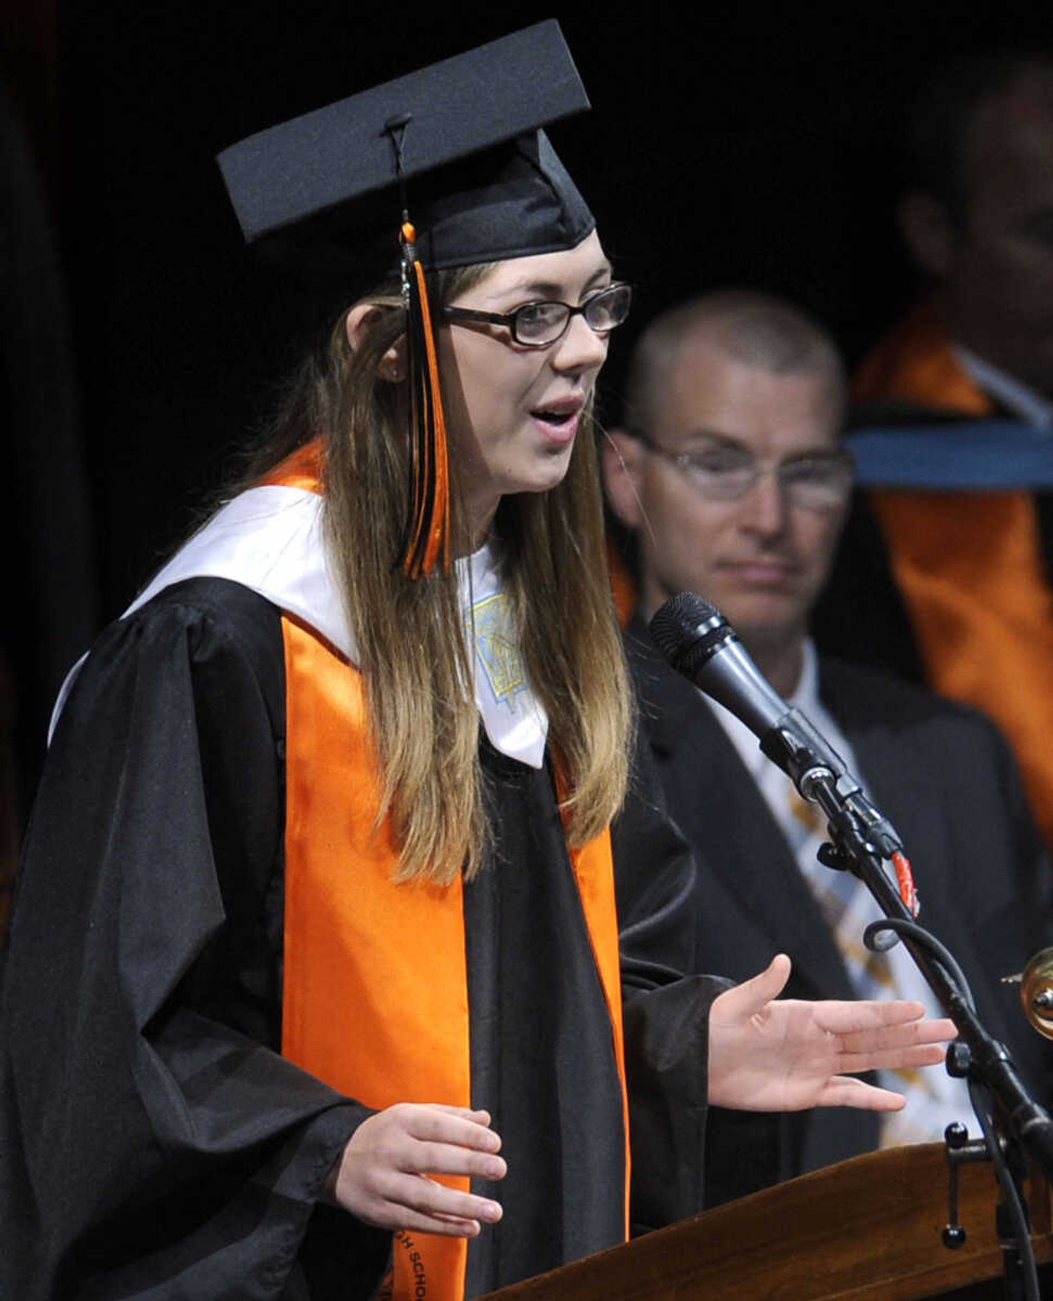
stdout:
<svg viewBox="0 0 1053 1301">
<path fill-rule="evenodd" d="M 920 920 L 957 955 L 985 1023 L 1046 1099 L 1053 1053 L 1017 989 L 1000 984 L 1050 942 L 1048 868 L 1007 745 L 979 714 L 817 656 L 808 636 L 851 490 L 843 409 L 841 360 L 810 317 L 760 294 L 711 294 L 644 332 L 625 425 L 604 449 L 608 497 L 638 550 L 627 641 L 643 722 L 669 812 L 699 857 L 698 961 L 742 978 L 785 950 L 790 997 L 932 1002 L 902 946 L 863 948 L 877 908 L 854 877 L 816 863 L 825 837 L 812 805 L 650 643 L 643 621 L 682 589 L 726 615 L 897 826 Z M 909 1103 L 884 1120 L 717 1112 L 707 1200 L 968 1121 L 962 1081 L 928 1075 L 896 1080 Z"/>
</svg>

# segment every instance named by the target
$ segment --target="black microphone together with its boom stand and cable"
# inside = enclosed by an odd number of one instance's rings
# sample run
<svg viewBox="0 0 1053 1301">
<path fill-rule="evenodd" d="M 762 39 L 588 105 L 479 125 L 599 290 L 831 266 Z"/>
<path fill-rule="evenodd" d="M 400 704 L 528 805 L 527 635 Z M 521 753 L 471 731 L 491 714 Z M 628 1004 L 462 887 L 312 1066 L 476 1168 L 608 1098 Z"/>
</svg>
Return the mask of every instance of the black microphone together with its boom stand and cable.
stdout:
<svg viewBox="0 0 1053 1301">
<path fill-rule="evenodd" d="M 914 883 L 896 829 L 808 718 L 773 691 L 718 610 L 685 592 L 666 601 L 651 621 L 651 631 L 673 667 L 735 713 L 760 738 L 764 755 L 790 777 L 802 799 L 823 809 L 829 843 L 819 851 L 820 861 L 858 877 L 885 915 L 867 926 L 864 943 L 879 951 L 902 939 L 957 1026 L 959 1039 L 948 1049 L 946 1068 L 968 1081 L 983 1142 L 970 1142 L 962 1125 L 948 1127 L 951 1224 L 944 1242 L 955 1248 L 964 1241 L 964 1231 L 957 1224 L 957 1164 L 989 1159 L 1002 1193 L 997 1233 L 1006 1294 L 1011 1301 L 1040 1301 L 1023 1180 L 1030 1160 L 1053 1180 L 1053 1120 L 1027 1092 L 1004 1045 L 980 1021 L 953 955 L 915 921 Z M 906 866 L 906 879 L 901 878 L 898 887 L 884 861 L 896 861 L 901 870 Z"/>
</svg>

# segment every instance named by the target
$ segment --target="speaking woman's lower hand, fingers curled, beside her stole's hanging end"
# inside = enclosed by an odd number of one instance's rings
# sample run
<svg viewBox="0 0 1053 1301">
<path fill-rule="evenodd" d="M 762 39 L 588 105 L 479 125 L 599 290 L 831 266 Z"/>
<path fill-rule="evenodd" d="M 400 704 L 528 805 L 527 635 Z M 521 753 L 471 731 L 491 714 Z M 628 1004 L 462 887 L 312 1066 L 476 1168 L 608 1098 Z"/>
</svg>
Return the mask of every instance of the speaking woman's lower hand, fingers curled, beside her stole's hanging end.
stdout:
<svg viewBox="0 0 1053 1301">
<path fill-rule="evenodd" d="M 363 1120 L 327 1184 L 327 1200 L 367 1224 L 475 1237 L 501 1218 L 499 1202 L 440 1184 L 430 1175 L 504 1179 L 500 1136 L 489 1112 L 400 1102 Z"/>
</svg>

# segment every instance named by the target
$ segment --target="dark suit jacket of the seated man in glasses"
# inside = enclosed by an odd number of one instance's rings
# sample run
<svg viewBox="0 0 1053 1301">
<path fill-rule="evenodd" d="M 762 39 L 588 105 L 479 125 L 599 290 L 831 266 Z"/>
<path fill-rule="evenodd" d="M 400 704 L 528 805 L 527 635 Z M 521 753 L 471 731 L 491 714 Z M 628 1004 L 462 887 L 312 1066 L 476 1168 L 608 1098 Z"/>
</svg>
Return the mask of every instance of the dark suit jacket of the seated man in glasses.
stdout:
<svg viewBox="0 0 1053 1301">
<path fill-rule="evenodd" d="M 734 978 L 784 951 L 794 964 L 787 997 L 853 998 L 815 896 L 728 734 L 640 619 L 627 647 L 669 813 L 696 853 L 696 951 Z M 819 687 L 871 798 L 903 837 L 920 921 L 958 958 L 984 1023 L 1048 1106 L 1053 1045 L 1024 1020 L 1018 986 L 1001 984 L 1053 943 L 1049 864 L 1007 743 L 971 709 L 823 656 Z M 873 1112 L 715 1108 L 707 1205 L 877 1142 Z"/>
</svg>

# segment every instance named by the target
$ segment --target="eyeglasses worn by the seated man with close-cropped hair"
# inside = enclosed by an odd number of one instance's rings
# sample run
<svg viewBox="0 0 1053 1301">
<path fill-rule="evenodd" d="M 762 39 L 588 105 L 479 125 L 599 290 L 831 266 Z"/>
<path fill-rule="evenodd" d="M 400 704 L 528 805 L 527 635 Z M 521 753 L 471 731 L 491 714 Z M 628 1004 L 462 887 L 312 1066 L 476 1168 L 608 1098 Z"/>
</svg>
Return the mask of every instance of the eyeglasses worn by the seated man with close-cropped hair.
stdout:
<svg viewBox="0 0 1053 1301">
<path fill-rule="evenodd" d="M 773 474 L 786 497 L 806 510 L 842 506 L 851 492 L 851 453 L 842 448 L 765 464 L 745 448 L 717 444 L 698 451 L 669 451 L 639 429 L 633 436 L 674 464 L 700 496 L 712 501 L 745 497 L 765 474 Z"/>
</svg>

